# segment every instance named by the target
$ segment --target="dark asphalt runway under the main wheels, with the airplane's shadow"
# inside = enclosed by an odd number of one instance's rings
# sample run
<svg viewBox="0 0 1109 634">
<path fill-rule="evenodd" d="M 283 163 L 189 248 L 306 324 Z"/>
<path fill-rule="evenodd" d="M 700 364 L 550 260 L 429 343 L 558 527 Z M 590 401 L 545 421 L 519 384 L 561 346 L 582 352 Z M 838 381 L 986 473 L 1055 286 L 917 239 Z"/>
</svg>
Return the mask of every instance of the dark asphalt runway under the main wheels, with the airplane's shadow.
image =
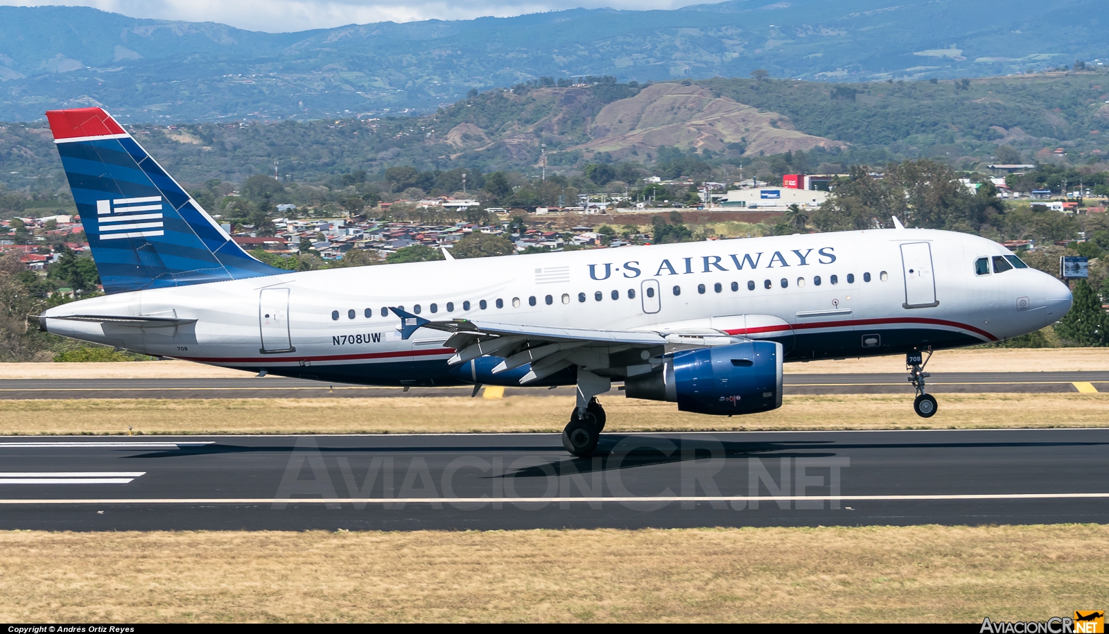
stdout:
<svg viewBox="0 0 1109 634">
<path fill-rule="evenodd" d="M 8 437 L 0 530 L 1106 523 L 1107 448 L 1109 429 L 609 433 L 587 459 L 551 433 Z"/>
</svg>

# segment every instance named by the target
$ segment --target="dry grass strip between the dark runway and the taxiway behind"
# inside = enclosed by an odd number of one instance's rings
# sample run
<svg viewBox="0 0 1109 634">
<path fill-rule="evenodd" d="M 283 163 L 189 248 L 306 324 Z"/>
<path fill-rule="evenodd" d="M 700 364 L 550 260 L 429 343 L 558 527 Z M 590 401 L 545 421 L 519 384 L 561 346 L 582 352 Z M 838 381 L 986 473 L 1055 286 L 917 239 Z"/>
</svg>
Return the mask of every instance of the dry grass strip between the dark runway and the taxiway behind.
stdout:
<svg viewBox="0 0 1109 634">
<path fill-rule="evenodd" d="M 1109 393 L 940 395 L 929 419 L 908 395 L 787 396 L 734 418 L 603 396 L 608 431 L 1106 427 Z M 0 400 L 0 434 L 561 431 L 572 397 Z"/>
</svg>

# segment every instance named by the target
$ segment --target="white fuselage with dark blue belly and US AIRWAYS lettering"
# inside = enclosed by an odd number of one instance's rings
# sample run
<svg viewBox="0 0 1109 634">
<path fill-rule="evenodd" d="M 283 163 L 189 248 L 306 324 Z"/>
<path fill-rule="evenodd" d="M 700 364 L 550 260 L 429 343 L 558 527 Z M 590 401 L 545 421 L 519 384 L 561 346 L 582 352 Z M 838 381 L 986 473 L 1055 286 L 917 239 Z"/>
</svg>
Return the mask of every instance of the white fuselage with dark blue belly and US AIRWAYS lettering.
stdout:
<svg viewBox="0 0 1109 634">
<path fill-rule="evenodd" d="M 804 234 L 288 273 L 96 297 L 42 321 L 146 355 L 380 385 L 466 380 L 448 371 L 445 333 L 401 339 L 387 307 L 431 320 L 713 328 L 782 341 L 787 360 L 857 357 L 995 341 L 1061 318 L 1070 293 L 1051 276 L 976 275 L 976 258 L 999 255 L 1011 254 L 930 229 Z M 195 323 L 51 319 L 68 315 Z"/>
</svg>

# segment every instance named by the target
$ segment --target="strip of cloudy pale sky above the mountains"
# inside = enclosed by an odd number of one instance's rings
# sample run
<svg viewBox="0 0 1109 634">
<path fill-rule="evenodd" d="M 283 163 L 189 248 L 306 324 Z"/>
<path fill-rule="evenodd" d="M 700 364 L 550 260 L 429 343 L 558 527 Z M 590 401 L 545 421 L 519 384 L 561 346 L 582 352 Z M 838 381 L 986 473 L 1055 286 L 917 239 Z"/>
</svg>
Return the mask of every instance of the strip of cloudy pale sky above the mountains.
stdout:
<svg viewBox="0 0 1109 634">
<path fill-rule="evenodd" d="M 578 7 L 676 9 L 713 0 L 0 0 L 0 4 L 93 7 L 132 18 L 221 22 L 252 31 L 287 32 L 369 22 L 469 20 Z"/>
</svg>

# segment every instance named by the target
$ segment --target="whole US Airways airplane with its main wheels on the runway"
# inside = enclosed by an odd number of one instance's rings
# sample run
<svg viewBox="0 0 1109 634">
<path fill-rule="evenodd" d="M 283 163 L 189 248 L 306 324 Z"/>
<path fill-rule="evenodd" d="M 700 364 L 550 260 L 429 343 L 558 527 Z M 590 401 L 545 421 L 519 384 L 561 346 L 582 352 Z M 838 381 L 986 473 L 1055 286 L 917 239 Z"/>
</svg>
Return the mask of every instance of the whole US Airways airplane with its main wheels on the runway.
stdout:
<svg viewBox="0 0 1109 634">
<path fill-rule="evenodd" d="M 143 355 L 376 386 L 574 386 L 562 442 L 593 452 L 597 400 L 733 416 L 782 405 L 783 362 L 905 354 L 936 412 L 934 350 L 1070 309 L 989 239 L 896 228 L 288 272 L 244 252 L 104 110 L 47 113 L 105 295 L 48 333 Z"/>
</svg>

